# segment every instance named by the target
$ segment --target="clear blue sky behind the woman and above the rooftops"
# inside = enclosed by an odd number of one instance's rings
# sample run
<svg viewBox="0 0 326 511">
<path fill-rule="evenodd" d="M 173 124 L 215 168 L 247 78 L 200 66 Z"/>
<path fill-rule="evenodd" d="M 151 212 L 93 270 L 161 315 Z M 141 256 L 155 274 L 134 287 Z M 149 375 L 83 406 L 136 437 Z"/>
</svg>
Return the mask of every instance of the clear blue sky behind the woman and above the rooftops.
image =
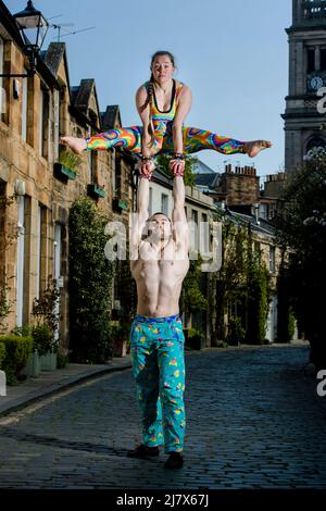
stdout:
<svg viewBox="0 0 326 511">
<path fill-rule="evenodd" d="M 12 13 L 26 0 L 4 0 Z M 71 85 L 95 78 L 101 110 L 118 104 L 124 126 L 139 124 L 135 91 L 150 75 L 156 50 L 176 57 L 176 77 L 192 90 L 188 126 L 240 140 L 266 138 L 272 150 L 254 163 L 259 175 L 284 165 L 284 123 L 288 90 L 288 42 L 291 0 L 34 0 L 50 23 L 74 23 L 65 30 L 95 29 L 62 37 L 67 45 Z M 62 29 L 63 34 L 64 29 Z M 51 28 L 45 47 L 57 40 Z M 227 159 L 214 151 L 199 158 L 215 171 Z M 246 155 L 229 163 L 250 164 Z"/>
</svg>

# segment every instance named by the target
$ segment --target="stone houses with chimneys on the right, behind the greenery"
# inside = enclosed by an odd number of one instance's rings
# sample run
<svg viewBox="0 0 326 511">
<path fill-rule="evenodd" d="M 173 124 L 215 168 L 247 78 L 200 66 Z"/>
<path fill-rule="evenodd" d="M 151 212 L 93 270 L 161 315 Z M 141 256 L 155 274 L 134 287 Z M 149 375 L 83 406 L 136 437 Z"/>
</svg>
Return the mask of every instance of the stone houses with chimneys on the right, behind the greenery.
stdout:
<svg viewBox="0 0 326 511">
<path fill-rule="evenodd" d="M 285 185 L 285 173 L 266 176 L 262 187 L 260 176 L 253 166 L 225 165 L 225 172 L 213 172 L 206 165 L 198 165 L 196 184 L 200 190 L 213 199 L 213 203 L 222 210 L 236 225 L 250 228 L 252 249 L 261 252 L 261 261 L 265 263 L 271 275 L 272 299 L 268 310 L 266 339 L 273 342 L 277 337 L 277 275 L 281 262 L 281 250 L 277 245 L 273 217 L 277 201 Z M 239 309 L 239 310 L 238 310 Z M 241 309 L 241 312 L 240 312 Z M 211 311 L 211 322 L 214 325 L 215 311 Z M 246 306 L 234 307 L 230 302 L 224 317 L 225 333 L 228 329 L 229 317 L 246 315 Z M 212 327 L 214 331 L 214 326 Z M 213 340 L 213 342 L 216 339 Z"/>
</svg>

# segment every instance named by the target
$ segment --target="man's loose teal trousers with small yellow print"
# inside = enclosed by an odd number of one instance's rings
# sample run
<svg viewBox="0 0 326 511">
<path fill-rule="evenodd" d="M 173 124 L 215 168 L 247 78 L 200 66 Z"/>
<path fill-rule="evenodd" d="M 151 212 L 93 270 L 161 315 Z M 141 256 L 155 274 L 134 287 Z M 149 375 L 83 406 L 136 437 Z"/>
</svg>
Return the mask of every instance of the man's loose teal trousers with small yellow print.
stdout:
<svg viewBox="0 0 326 511">
<path fill-rule="evenodd" d="M 143 444 L 164 444 L 165 452 L 181 452 L 186 427 L 185 337 L 178 314 L 147 317 L 136 314 L 130 354 L 142 413 Z"/>
</svg>

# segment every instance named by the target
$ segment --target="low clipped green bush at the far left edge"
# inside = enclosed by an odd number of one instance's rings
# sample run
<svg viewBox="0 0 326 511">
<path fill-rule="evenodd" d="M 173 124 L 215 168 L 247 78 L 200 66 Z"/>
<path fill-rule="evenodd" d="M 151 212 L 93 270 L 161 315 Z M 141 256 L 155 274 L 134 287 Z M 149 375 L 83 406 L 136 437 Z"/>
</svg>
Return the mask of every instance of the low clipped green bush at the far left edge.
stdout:
<svg viewBox="0 0 326 511">
<path fill-rule="evenodd" d="M 7 382 L 14 384 L 20 378 L 21 371 L 25 367 L 33 352 L 33 338 L 17 335 L 0 336 L 0 342 L 5 346 L 5 357 L 2 369 L 7 375 Z"/>
</svg>

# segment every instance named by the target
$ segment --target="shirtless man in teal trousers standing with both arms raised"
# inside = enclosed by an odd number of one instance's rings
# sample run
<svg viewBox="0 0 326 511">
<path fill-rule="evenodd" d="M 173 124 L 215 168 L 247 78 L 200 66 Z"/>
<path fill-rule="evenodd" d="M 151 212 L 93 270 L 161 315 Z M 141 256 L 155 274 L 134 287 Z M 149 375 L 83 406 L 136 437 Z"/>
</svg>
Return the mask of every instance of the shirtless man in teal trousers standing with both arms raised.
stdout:
<svg viewBox="0 0 326 511">
<path fill-rule="evenodd" d="M 137 220 L 130 261 L 137 284 L 138 306 L 130 339 L 137 395 L 142 413 L 143 443 L 129 457 L 159 454 L 165 445 L 166 469 L 183 466 L 185 437 L 184 333 L 179 316 L 183 281 L 189 269 L 189 229 L 185 213 L 185 185 L 174 177 L 172 221 L 163 213 L 149 217 L 149 180 L 140 177 Z M 148 237 L 142 239 L 143 230 Z"/>
</svg>

